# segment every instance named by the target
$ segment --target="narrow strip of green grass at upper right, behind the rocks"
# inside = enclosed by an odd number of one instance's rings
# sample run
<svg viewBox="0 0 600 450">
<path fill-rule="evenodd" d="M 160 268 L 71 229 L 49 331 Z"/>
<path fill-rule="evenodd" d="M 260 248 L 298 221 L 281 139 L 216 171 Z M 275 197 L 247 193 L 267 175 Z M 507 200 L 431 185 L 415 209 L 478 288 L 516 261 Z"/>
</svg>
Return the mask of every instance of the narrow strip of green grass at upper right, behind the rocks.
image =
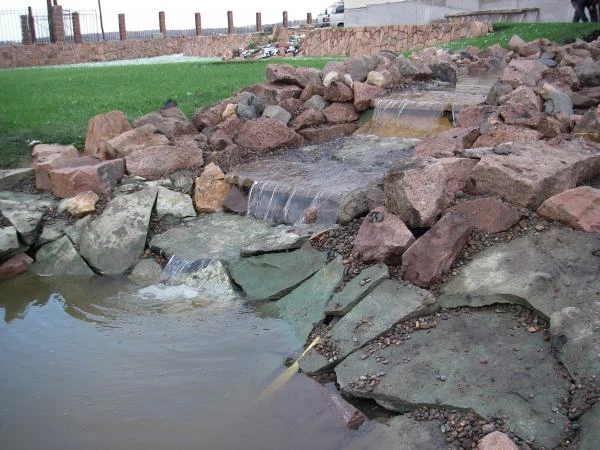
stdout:
<svg viewBox="0 0 600 450">
<path fill-rule="evenodd" d="M 476 38 L 460 39 L 440 47 L 447 50 L 461 50 L 471 45 L 487 48 L 498 44 L 506 48 L 510 38 L 515 34 L 525 42 L 546 38 L 563 45 L 600 30 L 600 24 L 597 23 L 494 23 L 493 27 L 493 33 Z"/>
</svg>

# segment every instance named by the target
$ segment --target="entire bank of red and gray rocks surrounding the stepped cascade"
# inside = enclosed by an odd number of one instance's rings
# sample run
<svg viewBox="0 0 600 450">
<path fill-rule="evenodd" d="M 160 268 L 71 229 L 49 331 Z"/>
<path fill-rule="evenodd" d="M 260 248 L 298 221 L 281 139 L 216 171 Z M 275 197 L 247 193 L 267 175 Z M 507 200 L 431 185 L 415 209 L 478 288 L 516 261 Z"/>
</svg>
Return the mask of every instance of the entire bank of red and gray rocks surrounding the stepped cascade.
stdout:
<svg viewBox="0 0 600 450">
<path fill-rule="evenodd" d="M 227 182 L 232 165 L 351 134 L 387 90 L 452 84 L 459 68 L 501 74 L 484 104 L 458 112 L 456 128 L 387 171 L 384 206 L 330 230 L 223 221 L 221 210 L 247 208 Z M 53 196 L 0 192 L 0 277 L 29 264 L 43 275 L 138 274 L 150 248 L 193 259 L 198 246 L 218 247 L 203 256 L 226 253 L 249 300 L 276 301 L 299 340 L 321 339 L 299 362 L 305 372 L 334 370 L 348 395 L 439 419 L 435 448 L 514 448 L 509 437 L 521 448 L 567 447 L 574 437 L 592 448 L 600 40 L 514 37 L 509 49 L 381 53 L 323 71 L 268 65 L 265 75 L 192 121 L 171 103 L 133 127 L 119 112 L 94 117 L 83 155 L 36 146 L 29 173 Z M 27 173 L 7 173 L 0 185 Z M 153 218 L 184 224 L 148 245 Z M 208 230 L 222 242 L 208 242 Z"/>
</svg>

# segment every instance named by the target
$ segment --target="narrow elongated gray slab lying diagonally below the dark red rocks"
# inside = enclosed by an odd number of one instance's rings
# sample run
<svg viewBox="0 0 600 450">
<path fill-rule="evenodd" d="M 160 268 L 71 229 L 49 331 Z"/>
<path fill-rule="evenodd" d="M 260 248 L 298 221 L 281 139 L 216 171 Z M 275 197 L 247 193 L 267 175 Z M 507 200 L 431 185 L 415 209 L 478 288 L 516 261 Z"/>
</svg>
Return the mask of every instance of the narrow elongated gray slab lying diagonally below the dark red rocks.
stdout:
<svg viewBox="0 0 600 450">
<path fill-rule="evenodd" d="M 332 316 L 343 316 L 350 311 L 367 294 L 375 289 L 379 283 L 390 277 L 385 264 L 376 264 L 367 267 L 358 276 L 354 277 L 341 292 L 333 294 L 327 304 L 325 312 Z"/>
</svg>

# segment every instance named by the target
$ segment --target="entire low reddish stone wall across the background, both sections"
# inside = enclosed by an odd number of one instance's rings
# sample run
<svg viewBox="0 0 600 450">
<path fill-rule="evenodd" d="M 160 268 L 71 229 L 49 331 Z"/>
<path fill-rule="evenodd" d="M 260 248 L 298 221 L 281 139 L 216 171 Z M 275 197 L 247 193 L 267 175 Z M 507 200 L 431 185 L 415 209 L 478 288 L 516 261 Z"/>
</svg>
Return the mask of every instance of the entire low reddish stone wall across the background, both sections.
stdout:
<svg viewBox="0 0 600 450">
<path fill-rule="evenodd" d="M 488 22 L 318 29 L 308 32 L 301 52 L 304 56 L 373 55 L 381 50 L 397 52 L 481 36 L 491 30 Z M 231 55 L 233 49 L 245 48 L 251 40 L 263 43 L 265 39 L 268 36 L 232 34 L 145 41 L 14 45 L 0 48 L 0 68 L 114 61 L 175 53 L 186 56 L 227 56 Z"/>
</svg>

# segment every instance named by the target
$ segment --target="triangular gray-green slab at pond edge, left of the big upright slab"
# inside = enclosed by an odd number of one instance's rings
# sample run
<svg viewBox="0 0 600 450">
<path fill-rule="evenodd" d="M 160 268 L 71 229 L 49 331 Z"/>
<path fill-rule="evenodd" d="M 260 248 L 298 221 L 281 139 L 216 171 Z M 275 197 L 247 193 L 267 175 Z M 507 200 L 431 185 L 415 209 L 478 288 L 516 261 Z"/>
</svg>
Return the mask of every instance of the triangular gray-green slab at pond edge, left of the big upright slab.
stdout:
<svg viewBox="0 0 600 450">
<path fill-rule="evenodd" d="M 43 275 L 94 275 L 67 236 L 41 247 L 29 272 Z"/>
</svg>

